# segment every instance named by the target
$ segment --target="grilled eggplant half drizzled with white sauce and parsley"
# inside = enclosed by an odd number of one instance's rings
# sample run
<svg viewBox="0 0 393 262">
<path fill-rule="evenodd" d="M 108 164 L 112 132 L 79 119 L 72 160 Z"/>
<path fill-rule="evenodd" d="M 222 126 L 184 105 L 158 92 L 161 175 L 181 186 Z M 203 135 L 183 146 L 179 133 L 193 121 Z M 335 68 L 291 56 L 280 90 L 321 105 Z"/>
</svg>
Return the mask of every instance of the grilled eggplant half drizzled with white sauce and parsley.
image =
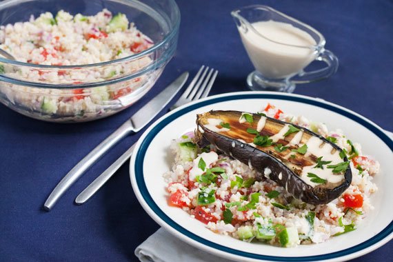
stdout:
<svg viewBox="0 0 393 262">
<path fill-rule="evenodd" d="M 352 181 L 341 148 L 299 125 L 237 111 L 199 114 L 196 125 L 196 143 L 211 143 L 305 203 L 329 203 Z"/>
</svg>

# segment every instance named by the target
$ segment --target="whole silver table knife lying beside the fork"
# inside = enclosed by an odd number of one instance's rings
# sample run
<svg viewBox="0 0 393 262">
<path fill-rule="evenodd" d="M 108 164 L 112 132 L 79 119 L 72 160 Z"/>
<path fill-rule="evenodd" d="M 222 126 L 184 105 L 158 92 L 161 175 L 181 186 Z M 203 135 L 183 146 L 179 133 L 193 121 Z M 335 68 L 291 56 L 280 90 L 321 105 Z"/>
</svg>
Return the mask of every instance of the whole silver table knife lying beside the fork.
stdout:
<svg viewBox="0 0 393 262">
<path fill-rule="evenodd" d="M 143 106 L 128 121 L 117 128 L 109 137 L 102 141 L 94 148 L 86 157 L 84 157 L 77 165 L 63 177 L 57 184 L 56 188 L 50 193 L 46 199 L 43 208 L 50 211 L 57 203 L 60 197 L 82 176 L 82 174 L 90 168 L 97 160 L 99 160 L 110 148 L 116 145 L 121 139 L 130 133 L 135 133 L 145 127 L 157 114 L 165 108 L 173 97 L 181 90 L 185 81 L 188 79 L 188 72 L 184 72 L 173 83 L 162 90 L 157 97 Z"/>
</svg>

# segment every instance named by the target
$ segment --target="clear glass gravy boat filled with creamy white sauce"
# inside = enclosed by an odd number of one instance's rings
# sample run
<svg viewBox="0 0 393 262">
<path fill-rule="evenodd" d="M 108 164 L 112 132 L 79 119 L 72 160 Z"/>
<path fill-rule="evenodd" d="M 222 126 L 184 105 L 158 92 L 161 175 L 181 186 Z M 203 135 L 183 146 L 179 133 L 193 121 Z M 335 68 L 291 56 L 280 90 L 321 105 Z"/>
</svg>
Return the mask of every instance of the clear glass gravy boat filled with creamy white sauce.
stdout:
<svg viewBox="0 0 393 262">
<path fill-rule="evenodd" d="M 269 6 L 246 6 L 231 12 L 254 72 L 247 77 L 252 90 L 293 92 L 296 83 L 310 83 L 334 74 L 339 60 L 325 50 L 323 35 L 301 21 Z M 325 68 L 304 72 L 312 61 Z"/>
</svg>

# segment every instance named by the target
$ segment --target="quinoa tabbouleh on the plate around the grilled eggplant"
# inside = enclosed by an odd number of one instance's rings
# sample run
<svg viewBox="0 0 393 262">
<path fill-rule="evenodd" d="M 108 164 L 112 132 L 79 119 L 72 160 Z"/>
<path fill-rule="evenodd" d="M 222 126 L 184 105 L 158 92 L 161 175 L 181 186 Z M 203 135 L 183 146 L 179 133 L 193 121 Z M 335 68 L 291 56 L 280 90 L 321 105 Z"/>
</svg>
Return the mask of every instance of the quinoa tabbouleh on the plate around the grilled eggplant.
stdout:
<svg viewBox="0 0 393 262">
<path fill-rule="evenodd" d="M 342 149 L 349 159 L 352 181 L 341 196 L 326 204 L 304 203 L 268 179 L 269 174 L 261 175 L 213 145 L 199 148 L 194 132 L 188 132 L 172 141 L 174 163 L 163 175 L 169 205 L 182 208 L 218 234 L 283 247 L 322 243 L 361 227 L 361 221 L 373 210 L 370 196 L 377 190 L 373 177 L 379 172 L 379 163 L 363 154 L 361 145 L 352 143 L 341 130 L 328 131 L 323 123 L 285 114 L 270 104 L 262 113 L 310 129 Z M 217 122 L 216 128 L 230 127 Z M 276 144 L 275 150 L 281 152 L 283 145 Z M 317 165 L 336 168 L 321 159 Z M 320 177 L 312 179 L 322 183 L 317 180 Z"/>
</svg>

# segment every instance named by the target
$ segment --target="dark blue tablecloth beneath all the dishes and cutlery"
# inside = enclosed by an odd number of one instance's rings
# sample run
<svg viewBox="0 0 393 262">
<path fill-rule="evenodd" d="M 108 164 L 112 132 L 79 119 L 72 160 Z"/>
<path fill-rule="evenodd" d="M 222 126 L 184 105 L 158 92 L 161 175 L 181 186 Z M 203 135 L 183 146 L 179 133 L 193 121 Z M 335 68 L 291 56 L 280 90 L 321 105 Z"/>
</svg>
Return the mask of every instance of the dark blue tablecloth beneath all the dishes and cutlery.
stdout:
<svg viewBox="0 0 393 262">
<path fill-rule="evenodd" d="M 103 157 L 51 212 L 42 205 L 68 170 L 180 72 L 194 74 L 205 64 L 219 70 L 211 94 L 247 90 L 245 77 L 252 65 L 230 11 L 261 2 L 312 25 L 339 57 L 333 77 L 298 85 L 296 94 L 343 105 L 393 130 L 392 1 L 179 1 L 177 53 L 154 89 L 132 108 L 108 119 L 63 125 L 29 119 L 0 105 L 0 261 L 137 260 L 134 249 L 159 225 L 132 192 L 128 162 L 89 203 L 73 201 L 141 133 Z M 392 250 L 390 241 L 354 261 L 387 261 Z"/>
</svg>

